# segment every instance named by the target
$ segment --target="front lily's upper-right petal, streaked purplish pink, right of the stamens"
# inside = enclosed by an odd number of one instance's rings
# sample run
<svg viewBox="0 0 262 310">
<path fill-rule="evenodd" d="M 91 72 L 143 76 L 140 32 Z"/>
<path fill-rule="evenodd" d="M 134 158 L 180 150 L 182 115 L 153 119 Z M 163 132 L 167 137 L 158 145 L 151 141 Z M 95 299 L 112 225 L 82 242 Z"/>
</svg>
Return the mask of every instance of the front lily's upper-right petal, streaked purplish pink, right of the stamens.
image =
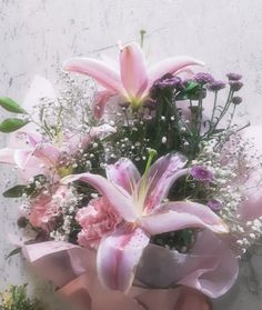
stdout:
<svg viewBox="0 0 262 310">
<path fill-rule="evenodd" d="M 147 212 L 152 211 L 167 198 L 170 188 L 178 178 L 188 173 L 188 170 L 181 170 L 185 163 L 185 157 L 178 153 L 161 157 L 153 163 L 148 176 L 150 187 L 144 202 Z"/>
</svg>

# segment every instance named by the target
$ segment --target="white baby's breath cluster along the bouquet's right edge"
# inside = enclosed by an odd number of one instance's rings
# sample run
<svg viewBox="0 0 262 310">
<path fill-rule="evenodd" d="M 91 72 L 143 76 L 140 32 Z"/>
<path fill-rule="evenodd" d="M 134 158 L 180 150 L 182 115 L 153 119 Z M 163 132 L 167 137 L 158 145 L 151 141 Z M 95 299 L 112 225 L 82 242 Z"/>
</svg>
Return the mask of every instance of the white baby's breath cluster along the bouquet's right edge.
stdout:
<svg viewBox="0 0 262 310">
<path fill-rule="evenodd" d="M 230 227 L 232 241 L 236 243 L 236 248 L 235 244 L 232 248 L 239 257 L 262 237 L 262 218 L 243 222 L 239 214 L 240 203 L 248 199 L 244 192 L 249 180 L 261 170 L 261 163 L 262 158 L 256 154 L 252 141 L 243 140 L 235 132 L 225 132 L 205 142 L 193 162 L 214 174 L 214 187 L 209 188 L 208 194 L 221 202 L 219 214 Z M 259 183 L 262 184 L 261 180 Z"/>
</svg>

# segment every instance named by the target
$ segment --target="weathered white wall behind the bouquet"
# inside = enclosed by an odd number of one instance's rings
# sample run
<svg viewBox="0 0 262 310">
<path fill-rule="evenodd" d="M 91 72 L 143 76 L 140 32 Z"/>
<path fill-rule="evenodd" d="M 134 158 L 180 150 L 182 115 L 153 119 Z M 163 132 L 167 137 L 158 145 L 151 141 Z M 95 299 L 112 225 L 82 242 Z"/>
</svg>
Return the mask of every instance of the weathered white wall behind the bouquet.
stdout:
<svg viewBox="0 0 262 310">
<path fill-rule="evenodd" d="M 54 80 L 61 63 L 72 56 L 117 52 L 115 43 L 148 32 L 150 60 L 190 54 L 223 79 L 241 72 L 245 87 L 242 112 L 262 122 L 262 1 L 261 0 L 0 0 L 0 96 L 22 101 L 34 74 Z M 4 137 L 0 138 L 1 146 Z M 1 188 L 11 171 L 1 168 Z M 1 199 L 0 287 L 29 281 L 19 257 L 4 260 L 11 249 L 7 233 L 16 228 L 16 206 Z M 26 269 L 24 269 L 26 268 Z M 30 272 L 29 272 L 30 273 Z M 66 309 L 44 281 L 30 281 L 50 310 Z M 215 309 L 261 310 L 262 262 L 259 256 L 243 263 L 234 289 Z M 164 309 L 163 309 L 164 310 Z M 192 309 L 193 310 L 193 309 Z"/>
</svg>

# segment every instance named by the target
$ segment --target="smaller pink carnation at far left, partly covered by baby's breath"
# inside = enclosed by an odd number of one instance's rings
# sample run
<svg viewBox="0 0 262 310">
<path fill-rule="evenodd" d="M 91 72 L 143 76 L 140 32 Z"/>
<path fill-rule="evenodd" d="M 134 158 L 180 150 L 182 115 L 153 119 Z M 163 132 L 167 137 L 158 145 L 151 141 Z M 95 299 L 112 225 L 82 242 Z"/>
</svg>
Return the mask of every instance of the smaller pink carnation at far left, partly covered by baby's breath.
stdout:
<svg viewBox="0 0 262 310">
<path fill-rule="evenodd" d="M 50 221 L 61 212 L 59 202 L 64 199 L 67 193 L 66 187 L 59 187 L 53 194 L 42 194 L 38 197 L 30 206 L 28 219 L 33 227 L 46 228 Z"/>
</svg>

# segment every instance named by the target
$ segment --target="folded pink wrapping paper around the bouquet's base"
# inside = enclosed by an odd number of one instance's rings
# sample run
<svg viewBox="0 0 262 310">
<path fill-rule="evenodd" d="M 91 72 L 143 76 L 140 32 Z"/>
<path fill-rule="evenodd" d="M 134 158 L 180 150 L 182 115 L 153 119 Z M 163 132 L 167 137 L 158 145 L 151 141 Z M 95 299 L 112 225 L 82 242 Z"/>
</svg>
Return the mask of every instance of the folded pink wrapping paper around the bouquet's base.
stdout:
<svg viewBox="0 0 262 310">
<path fill-rule="evenodd" d="M 209 297 L 228 291 L 238 276 L 229 264 L 233 253 L 209 231 L 202 232 L 193 254 L 158 246 L 145 249 L 129 292 L 104 288 L 95 272 L 95 252 L 67 242 L 48 241 L 23 247 L 28 261 L 81 310 L 210 310 Z M 202 247 L 205 247 L 204 257 Z M 221 257 L 221 252 L 223 252 Z M 169 288 L 172 286 L 172 288 Z"/>
</svg>

